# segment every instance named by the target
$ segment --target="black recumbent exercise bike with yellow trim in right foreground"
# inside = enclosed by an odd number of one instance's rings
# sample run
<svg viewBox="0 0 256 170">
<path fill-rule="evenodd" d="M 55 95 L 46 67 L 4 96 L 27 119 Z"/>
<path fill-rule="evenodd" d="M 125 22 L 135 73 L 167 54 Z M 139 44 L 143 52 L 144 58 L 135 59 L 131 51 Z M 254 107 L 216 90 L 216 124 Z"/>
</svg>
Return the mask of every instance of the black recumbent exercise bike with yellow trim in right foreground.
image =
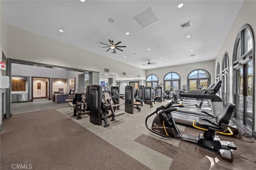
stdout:
<svg viewBox="0 0 256 170">
<path fill-rule="evenodd" d="M 232 150 L 236 150 L 236 145 L 233 142 L 221 141 L 216 132 L 221 134 L 233 135 L 232 130 L 228 127 L 232 113 L 235 109 L 233 103 L 227 103 L 224 109 L 216 116 L 216 118 L 197 117 L 193 122 L 195 128 L 204 130 L 203 134 L 198 136 L 190 136 L 182 134 L 172 117 L 172 111 L 176 108 L 171 107 L 174 102 L 171 101 L 165 106 L 158 107 L 156 111 L 146 117 L 146 127 L 151 132 L 165 138 L 175 138 L 185 140 L 197 144 L 203 148 L 218 152 L 219 156 L 229 162 L 233 162 Z M 158 113 L 159 112 L 159 113 Z M 152 122 L 152 128 L 148 127 L 148 118 L 156 114 Z"/>
</svg>

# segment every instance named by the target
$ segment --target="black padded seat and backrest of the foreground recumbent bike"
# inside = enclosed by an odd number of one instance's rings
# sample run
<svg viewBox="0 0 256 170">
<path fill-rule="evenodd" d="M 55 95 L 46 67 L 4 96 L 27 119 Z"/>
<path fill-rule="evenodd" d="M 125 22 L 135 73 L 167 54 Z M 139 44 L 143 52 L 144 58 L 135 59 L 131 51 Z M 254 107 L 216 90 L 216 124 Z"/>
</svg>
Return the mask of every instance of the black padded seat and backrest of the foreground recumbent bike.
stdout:
<svg viewBox="0 0 256 170">
<path fill-rule="evenodd" d="M 216 116 L 216 118 L 197 117 L 195 125 L 196 127 L 223 132 L 226 130 L 226 127 L 223 127 L 222 124 L 228 125 L 235 107 L 236 105 L 233 103 L 227 103 L 223 110 Z"/>
</svg>

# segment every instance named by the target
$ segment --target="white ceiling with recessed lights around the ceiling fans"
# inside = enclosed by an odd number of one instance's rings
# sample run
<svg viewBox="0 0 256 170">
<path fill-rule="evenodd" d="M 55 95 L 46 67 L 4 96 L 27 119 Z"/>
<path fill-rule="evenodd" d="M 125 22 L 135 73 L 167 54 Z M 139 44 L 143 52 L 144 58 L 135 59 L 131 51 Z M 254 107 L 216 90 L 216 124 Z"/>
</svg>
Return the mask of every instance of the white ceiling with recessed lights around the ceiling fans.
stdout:
<svg viewBox="0 0 256 170">
<path fill-rule="evenodd" d="M 153 69 L 215 59 L 242 2 L 2 0 L 2 5 L 7 24 L 142 69 Z M 177 7 L 180 3 L 184 4 L 182 8 Z M 149 7 L 158 20 L 142 28 L 134 16 Z M 115 22 L 108 22 L 109 18 Z M 188 21 L 191 27 L 181 30 L 179 25 Z M 109 44 L 108 39 L 121 41 L 119 45 L 126 48 L 116 50 L 116 54 L 111 53 L 112 49 L 106 52 L 108 48 L 100 48 L 104 46 L 100 42 Z M 148 60 L 157 65 L 142 65 Z"/>
</svg>

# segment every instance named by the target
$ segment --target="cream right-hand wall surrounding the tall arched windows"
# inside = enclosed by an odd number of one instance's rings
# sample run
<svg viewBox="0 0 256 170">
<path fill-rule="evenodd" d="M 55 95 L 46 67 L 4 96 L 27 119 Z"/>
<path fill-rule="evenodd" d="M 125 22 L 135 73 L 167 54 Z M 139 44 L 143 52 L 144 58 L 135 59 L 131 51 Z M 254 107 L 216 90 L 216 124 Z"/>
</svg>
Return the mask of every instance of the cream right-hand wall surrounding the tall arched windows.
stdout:
<svg viewBox="0 0 256 170">
<path fill-rule="evenodd" d="M 220 51 L 218 52 L 218 55 L 215 59 L 215 69 L 217 67 L 217 63 L 220 63 L 220 69 L 222 65 L 222 57 L 225 51 L 228 52 L 228 59 L 229 59 L 229 101 L 233 102 L 233 50 L 234 50 L 234 44 L 236 41 L 236 36 L 238 34 L 238 31 L 244 24 L 249 24 L 252 28 L 252 32 L 254 34 L 254 40 L 256 40 L 255 34 L 256 34 L 256 1 L 244 1 L 238 15 L 236 16 L 236 19 L 234 20 L 234 23 L 232 24 L 232 27 L 230 28 L 230 31 L 228 32 L 228 35 L 226 36 L 225 41 L 222 44 L 222 47 L 220 48 Z M 255 42 L 254 42 L 255 43 Z M 255 47 L 254 47 L 255 49 Z M 256 66 L 256 56 L 254 51 L 254 66 Z M 255 69 L 254 69 L 255 71 Z M 254 72 L 254 77 L 256 73 Z M 255 79 L 254 79 L 255 80 Z M 256 89 L 256 83 L 254 82 L 254 89 Z M 254 92 L 255 94 L 255 92 Z M 255 96 L 254 96 L 255 98 Z M 254 108 L 255 108 L 254 103 Z M 255 111 L 255 110 L 254 110 Z M 254 113 L 254 115 L 256 115 Z M 256 129 L 256 116 L 254 116 L 254 129 Z"/>
</svg>

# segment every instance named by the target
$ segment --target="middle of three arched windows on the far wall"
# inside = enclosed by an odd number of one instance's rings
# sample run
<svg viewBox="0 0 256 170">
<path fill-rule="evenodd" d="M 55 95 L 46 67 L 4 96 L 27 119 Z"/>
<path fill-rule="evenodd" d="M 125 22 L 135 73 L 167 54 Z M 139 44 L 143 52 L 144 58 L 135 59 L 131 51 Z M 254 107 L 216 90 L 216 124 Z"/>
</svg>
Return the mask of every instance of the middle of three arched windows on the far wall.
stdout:
<svg viewBox="0 0 256 170">
<path fill-rule="evenodd" d="M 178 73 L 170 72 L 164 76 L 164 91 L 170 90 L 171 87 L 174 87 L 175 91 L 180 90 L 180 75 Z"/>
</svg>

